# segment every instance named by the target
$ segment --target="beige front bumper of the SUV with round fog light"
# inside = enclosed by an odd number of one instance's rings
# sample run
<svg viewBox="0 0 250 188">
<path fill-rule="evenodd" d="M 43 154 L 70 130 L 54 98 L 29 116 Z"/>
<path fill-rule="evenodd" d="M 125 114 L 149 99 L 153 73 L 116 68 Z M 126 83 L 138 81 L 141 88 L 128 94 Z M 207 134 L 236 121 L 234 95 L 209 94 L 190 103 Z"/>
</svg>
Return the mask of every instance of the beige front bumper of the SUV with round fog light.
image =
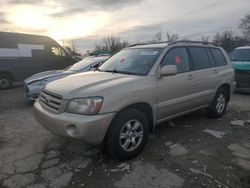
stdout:
<svg viewBox="0 0 250 188">
<path fill-rule="evenodd" d="M 57 136 L 99 145 L 104 140 L 115 113 L 92 116 L 66 112 L 55 114 L 46 111 L 37 100 L 34 104 L 34 115 L 42 126 Z"/>
</svg>

